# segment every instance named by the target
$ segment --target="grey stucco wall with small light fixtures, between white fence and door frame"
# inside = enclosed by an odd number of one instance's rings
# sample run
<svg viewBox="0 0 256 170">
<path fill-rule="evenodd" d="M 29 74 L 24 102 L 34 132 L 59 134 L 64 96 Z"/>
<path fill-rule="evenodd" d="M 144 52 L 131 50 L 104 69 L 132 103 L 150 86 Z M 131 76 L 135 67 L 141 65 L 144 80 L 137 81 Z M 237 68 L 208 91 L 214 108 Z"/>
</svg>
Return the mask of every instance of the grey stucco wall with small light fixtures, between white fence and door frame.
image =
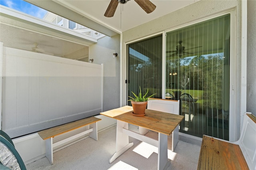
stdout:
<svg viewBox="0 0 256 170">
<path fill-rule="evenodd" d="M 120 106 L 120 35 L 104 37 L 89 49 L 93 63 L 104 64 L 103 111 Z M 113 58 L 113 53 L 118 57 Z"/>
</svg>

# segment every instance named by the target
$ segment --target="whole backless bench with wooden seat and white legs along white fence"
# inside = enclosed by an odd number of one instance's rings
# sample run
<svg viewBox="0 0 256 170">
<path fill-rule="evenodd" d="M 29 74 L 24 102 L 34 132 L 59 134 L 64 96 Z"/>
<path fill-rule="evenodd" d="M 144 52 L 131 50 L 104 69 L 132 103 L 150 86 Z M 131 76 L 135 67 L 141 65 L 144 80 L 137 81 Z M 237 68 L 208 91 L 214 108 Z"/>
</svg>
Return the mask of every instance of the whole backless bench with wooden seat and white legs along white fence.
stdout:
<svg viewBox="0 0 256 170">
<path fill-rule="evenodd" d="M 61 144 L 64 144 L 65 142 L 70 141 L 71 139 L 78 138 L 84 134 L 89 133 L 89 137 L 98 140 L 98 130 L 97 130 L 97 122 L 101 119 L 98 119 L 96 117 L 88 117 L 85 119 L 81 119 L 78 121 L 74 121 L 71 123 L 67 123 L 64 125 L 48 128 L 46 130 L 42 130 L 38 132 L 39 136 L 46 140 L 46 157 L 50 161 L 51 164 L 53 164 L 53 148 L 55 146 L 59 146 Z M 83 132 L 80 132 L 78 134 L 75 134 L 74 136 L 70 136 L 68 138 L 65 138 L 63 140 L 60 140 L 58 142 L 53 143 L 52 138 L 54 136 L 58 136 L 60 134 L 64 134 L 66 132 L 70 132 L 71 130 L 75 130 L 84 126 L 89 125 L 89 129 L 85 130 Z"/>
</svg>

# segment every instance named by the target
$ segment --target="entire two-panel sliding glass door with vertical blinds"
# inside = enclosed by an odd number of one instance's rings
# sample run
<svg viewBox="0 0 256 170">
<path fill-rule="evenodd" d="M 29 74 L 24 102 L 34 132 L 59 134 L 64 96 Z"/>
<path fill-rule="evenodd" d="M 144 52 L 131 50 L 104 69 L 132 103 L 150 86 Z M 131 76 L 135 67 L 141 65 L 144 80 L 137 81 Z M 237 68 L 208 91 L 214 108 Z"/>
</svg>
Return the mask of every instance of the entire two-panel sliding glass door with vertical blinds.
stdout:
<svg viewBox="0 0 256 170">
<path fill-rule="evenodd" d="M 139 87 L 180 100 L 180 132 L 229 140 L 230 14 L 167 32 L 162 45 L 162 34 L 127 45 L 127 100 Z"/>
</svg>

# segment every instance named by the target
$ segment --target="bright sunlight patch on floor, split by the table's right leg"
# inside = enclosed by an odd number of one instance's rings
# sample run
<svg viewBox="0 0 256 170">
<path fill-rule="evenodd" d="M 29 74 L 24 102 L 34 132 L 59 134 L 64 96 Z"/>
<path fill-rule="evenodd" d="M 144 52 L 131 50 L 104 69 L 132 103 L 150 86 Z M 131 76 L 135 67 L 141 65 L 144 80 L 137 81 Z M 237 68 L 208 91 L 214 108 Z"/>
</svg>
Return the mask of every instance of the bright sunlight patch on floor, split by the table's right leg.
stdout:
<svg viewBox="0 0 256 170">
<path fill-rule="evenodd" d="M 146 142 L 141 142 L 136 146 L 132 151 L 136 152 L 137 154 L 140 154 L 141 156 L 144 156 L 145 158 L 149 158 L 149 156 L 155 152 L 158 154 L 158 148 L 156 146 L 152 146 Z M 168 149 L 168 159 L 174 160 L 176 153 L 172 152 L 172 150 Z"/>
</svg>

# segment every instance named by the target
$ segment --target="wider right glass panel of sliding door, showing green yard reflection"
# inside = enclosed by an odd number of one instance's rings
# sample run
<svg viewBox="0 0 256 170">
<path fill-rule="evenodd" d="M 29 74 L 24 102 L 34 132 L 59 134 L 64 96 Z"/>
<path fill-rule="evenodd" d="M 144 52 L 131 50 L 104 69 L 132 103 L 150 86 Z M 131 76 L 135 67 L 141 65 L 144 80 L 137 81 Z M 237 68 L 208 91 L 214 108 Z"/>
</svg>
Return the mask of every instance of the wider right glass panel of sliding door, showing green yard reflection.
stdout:
<svg viewBox="0 0 256 170">
<path fill-rule="evenodd" d="M 229 139 L 230 15 L 166 34 L 166 98 L 180 99 L 180 132 Z"/>
</svg>

